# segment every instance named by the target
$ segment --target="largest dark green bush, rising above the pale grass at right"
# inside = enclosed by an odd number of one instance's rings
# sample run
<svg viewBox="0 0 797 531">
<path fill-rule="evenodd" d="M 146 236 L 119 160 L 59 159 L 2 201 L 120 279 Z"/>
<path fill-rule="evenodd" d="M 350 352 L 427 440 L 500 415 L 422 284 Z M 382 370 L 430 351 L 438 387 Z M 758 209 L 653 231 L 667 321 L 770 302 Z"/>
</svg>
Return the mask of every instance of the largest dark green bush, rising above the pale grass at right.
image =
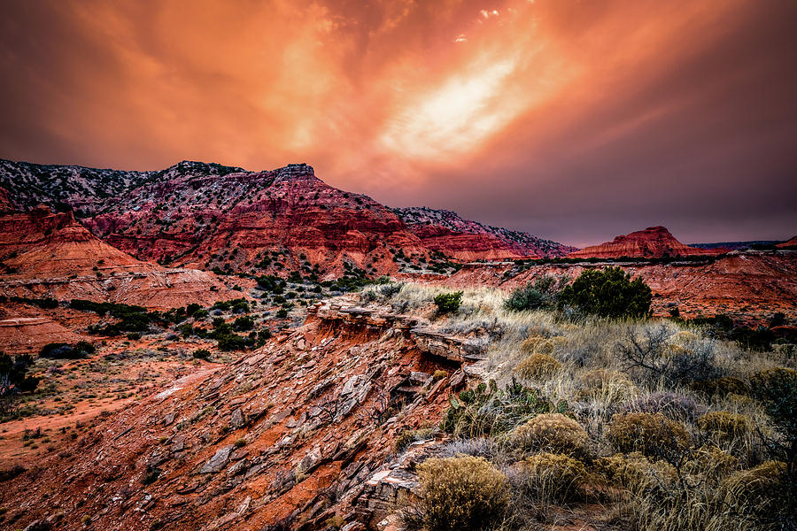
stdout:
<svg viewBox="0 0 797 531">
<path fill-rule="evenodd" d="M 619 267 L 588 269 L 559 294 L 559 307 L 609 319 L 643 318 L 650 313 L 653 292 Z"/>
</svg>

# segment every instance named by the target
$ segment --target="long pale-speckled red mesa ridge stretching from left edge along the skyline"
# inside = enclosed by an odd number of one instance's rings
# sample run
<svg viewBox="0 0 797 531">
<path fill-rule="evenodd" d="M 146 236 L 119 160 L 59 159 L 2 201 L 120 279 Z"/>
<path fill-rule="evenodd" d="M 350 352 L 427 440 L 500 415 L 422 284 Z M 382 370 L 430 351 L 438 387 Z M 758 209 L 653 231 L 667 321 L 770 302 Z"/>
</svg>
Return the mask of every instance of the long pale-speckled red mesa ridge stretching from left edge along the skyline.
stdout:
<svg viewBox="0 0 797 531">
<path fill-rule="evenodd" d="M 161 265 L 278 274 L 317 265 L 316 272 L 337 276 L 344 264 L 396 273 L 399 250 L 466 261 L 573 250 L 454 212 L 391 211 L 328 186 L 305 164 L 246 172 L 183 161 L 160 172 L 118 172 L 0 161 L 0 186 L 20 210 L 39 202 L 72 206 L 104 241 Z"/>
</svg>

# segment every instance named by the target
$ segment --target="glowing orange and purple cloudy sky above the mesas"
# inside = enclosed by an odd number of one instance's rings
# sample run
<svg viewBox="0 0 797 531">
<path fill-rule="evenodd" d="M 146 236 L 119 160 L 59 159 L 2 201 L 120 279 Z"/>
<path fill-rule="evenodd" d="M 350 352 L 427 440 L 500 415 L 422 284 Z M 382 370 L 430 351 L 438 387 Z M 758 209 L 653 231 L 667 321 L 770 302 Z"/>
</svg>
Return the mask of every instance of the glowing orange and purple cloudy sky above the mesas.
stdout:
<svg viewBox="0 0 797 531">
<path fill-rule="evenodd" d="M 797 235 L 793 0 L 0 0 L 0 158 L 296 162 L 584 246 Z"/>
</svg>

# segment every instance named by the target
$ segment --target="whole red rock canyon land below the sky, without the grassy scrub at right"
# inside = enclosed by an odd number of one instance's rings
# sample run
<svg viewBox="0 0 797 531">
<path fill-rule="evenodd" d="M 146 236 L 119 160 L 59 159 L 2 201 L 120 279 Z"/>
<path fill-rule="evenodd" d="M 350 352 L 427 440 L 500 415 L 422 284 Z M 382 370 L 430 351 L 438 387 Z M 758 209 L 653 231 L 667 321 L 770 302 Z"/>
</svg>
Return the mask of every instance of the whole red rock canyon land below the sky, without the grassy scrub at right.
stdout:
<svg viewBox="0 0 797 531">
<path fill-rule="evenodd" d="M 0 161 L 0 350 L 39 354 L 41 380 L 0 423 L 0 523 L 395 530 L 416 466 L 455 455 L 439 426 L 458 393 L 496 385 L 502 335 L 565 344 L 525 317 L 499 326 L 495 300 L 604 267 L 645 281 L 661 322 L 797 325 L 793 240 L 699 248 L 649 227 L 577 250 L 389 208 L 306 164 Z M 406 286 L 495 304 L 449 323 L 433 296 L 391 300 Z M 126 312 L 149 320 L 122 329 Z M 45 356 L 81 342 L 82 358 Z"/>
</svg>

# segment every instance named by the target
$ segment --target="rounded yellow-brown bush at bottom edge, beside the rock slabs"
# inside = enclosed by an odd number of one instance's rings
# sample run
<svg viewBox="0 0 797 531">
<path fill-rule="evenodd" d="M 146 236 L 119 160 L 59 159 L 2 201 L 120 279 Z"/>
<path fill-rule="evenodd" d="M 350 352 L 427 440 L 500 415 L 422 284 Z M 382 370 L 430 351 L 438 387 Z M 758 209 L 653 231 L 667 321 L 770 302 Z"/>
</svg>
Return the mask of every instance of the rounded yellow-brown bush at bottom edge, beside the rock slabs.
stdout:
<svg viewBox="0 0 797 531">
<path fill-rule="evenodd" d="M 509 501 L 507 477 L 484 458 L 431 458 L 418 466 L 418 476 L 428 531 L 484 529 Z"/>
</svg>

